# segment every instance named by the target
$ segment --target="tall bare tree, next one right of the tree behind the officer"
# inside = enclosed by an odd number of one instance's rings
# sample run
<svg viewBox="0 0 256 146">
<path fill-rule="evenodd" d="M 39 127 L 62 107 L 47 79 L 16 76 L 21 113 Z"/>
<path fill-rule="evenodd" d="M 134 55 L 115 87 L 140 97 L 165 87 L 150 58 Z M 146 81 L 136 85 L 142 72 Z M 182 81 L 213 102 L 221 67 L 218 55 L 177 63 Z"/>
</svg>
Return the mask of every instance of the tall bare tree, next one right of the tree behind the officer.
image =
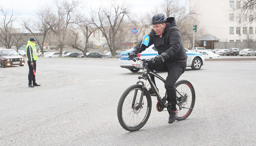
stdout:
<svg viewBox="0 0 256 146">
<path fill-rule="evenodd" d="M 80 1 L 68 0 L 58 1 L 55 0 L 55 6 L 57 7 L 57 14 L 52 17 L 51 23 L 49 26 L 56 36 L 56 41 L 60 47 L 60 57 L 62 57 L 62 51 L 64 46 L 67 44 L 67 36 L 70 34 L 69 27 L 72 24 L 81 21 L 81 15 L 77 14 L 77 8 L 80 5 Z"/>
</svg>

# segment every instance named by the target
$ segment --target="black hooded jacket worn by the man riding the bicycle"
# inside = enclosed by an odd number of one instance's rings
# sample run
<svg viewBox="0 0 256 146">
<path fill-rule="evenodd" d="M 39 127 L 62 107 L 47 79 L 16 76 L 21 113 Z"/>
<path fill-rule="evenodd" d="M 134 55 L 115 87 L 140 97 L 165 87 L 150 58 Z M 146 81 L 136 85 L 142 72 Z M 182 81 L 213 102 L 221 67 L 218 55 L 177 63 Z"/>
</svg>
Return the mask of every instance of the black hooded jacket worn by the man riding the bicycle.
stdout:
<svg viewBox="0 0 256 146">
<path fill-rule="evenodd" d="M 181 39 L 180 31 L 177 28 L 174 17 L 167 18 L 166 27 L 163 31 L 162 36 L 156 35 L 154 29 L 148 34 L 150 42 L 148 46 L 141 45 L 142 40 L 134 47 L 132 52 L 141 53 L 146 50 L 150 45 L 154 44 L 158 54 L 165 52 L 168 58 L 165 59 L 167 62 L 181 61 L 187 59 L 187 53 L 184 49 L 184 45 Z M 140 48 L 141 45 L 141 48 Z"/>
</svg>

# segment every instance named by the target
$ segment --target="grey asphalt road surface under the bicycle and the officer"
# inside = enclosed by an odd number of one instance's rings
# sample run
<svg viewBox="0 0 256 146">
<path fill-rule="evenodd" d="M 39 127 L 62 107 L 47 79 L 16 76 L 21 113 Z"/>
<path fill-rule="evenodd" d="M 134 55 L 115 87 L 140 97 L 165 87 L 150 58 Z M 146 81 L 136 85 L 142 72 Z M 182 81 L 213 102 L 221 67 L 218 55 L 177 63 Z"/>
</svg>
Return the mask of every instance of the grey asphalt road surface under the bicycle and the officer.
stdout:
<svg viewBox="0 0 256 146">
<path fill-rule="evenodd" d="M 139 74 L 120 68 L 118 59 L 39 58 L 41 86 L 34 88 L 28 88 L 27 62 L 0 68 L 0 146 L 254 146 L 255 72 L 255 60 L 187 68 L 180 79 L 195 88 L 191 115 L 168 124 L 168 112 L 158 112 L 152 97 L 145 126 L 128 132 L 118 123 L 117 104 Z"/>
</svg>

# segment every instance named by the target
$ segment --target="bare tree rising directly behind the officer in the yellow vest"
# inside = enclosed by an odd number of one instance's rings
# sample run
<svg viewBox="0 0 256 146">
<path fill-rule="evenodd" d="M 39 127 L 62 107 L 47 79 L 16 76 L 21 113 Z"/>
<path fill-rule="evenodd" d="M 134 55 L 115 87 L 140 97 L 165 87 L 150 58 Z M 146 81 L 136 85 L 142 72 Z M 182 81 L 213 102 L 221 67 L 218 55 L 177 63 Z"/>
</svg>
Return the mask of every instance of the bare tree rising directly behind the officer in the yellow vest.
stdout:
<svg viewBox="0 0 256 146">
<path fill-rule="evenodd" d="M 28 30 L 34 38 L 37 40 L 37 44 L 44 56 L 43 47 L 47 34 L 49 33 L 51 23 L 52 12 L 51 7 L 41 7 L 37 13 L 38 20 L 23 20 L 22 25 Z M 41 38 L 42 37 L 42 38 Z"/>
</svg>

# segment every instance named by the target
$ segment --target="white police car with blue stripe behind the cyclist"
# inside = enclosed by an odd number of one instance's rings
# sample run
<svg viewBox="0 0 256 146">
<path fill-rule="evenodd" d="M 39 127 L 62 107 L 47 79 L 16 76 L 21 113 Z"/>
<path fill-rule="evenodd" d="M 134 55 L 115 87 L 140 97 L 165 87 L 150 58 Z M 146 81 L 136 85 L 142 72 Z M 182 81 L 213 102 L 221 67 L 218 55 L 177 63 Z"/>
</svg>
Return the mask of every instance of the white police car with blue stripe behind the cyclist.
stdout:
<svg viewBox="0 0 256 146">
<path fill-rule="evenodd" d="M 128 53 L 130 53 L 132 49 L 121 52 L 120 59 L 119 59 L 119 66 L 121 68 L 129 69 L 131 72 L 138 72 L 140 69 L 143 68 L 142 63 L 140 61 L 134 62 L 132 60 L 128 60 L 129 59 Z M 187 67 L 191 67 L 193 70 L 199 70 L 204 64 L 204 58 L 202 54 L 194 51 L 190 51 L 187 49 L 185 50 L 188 56 Z M 145 51 L 138 54 L 138 57 L 142 59 L 144 58 L 148 59 L 148 58 L 153 58 L 156 55 L 158 55 L 158 52 L 153 44 L 150 47 L 148 47 Z"/>
</svg>

